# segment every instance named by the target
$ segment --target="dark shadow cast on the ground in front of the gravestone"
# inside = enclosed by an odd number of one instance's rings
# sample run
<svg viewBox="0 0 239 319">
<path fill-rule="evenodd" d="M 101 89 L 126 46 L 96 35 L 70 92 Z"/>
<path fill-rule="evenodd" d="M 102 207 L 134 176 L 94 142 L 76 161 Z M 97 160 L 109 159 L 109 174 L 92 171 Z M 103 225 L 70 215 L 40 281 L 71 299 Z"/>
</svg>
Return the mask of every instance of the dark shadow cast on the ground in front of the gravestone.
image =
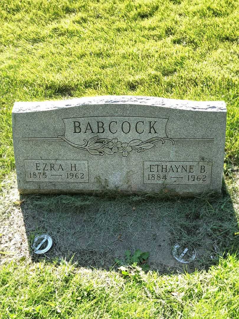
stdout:
<svg viewBox="0 0 239 319">
<path fill-rule="evenodd" d="M 207 269 L 218 256 L 239 247 L 238 220 L 226 189 L 214 198 L 22 195 L 20 200 L 33 261 L 74 255 L 80 266 L 109 269 L 114 258 L 124 259 L 127 249 L 141 249 L 150 252 L 151 270 L 192 272 Z M 33 237 L 41 233 L 53 239 L 46 255 L 31 249 Z M 177 262 L 172 255 L 176 243 L 194 247 L 195 261 Z"/>
</svg>

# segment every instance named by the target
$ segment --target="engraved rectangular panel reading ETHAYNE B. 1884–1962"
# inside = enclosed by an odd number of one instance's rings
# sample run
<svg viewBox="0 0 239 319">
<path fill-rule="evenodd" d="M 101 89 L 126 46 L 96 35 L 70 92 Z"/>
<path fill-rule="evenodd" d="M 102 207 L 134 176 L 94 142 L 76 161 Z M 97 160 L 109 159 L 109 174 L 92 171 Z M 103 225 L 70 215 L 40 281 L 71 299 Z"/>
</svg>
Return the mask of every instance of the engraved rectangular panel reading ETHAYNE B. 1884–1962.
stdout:
<svg viewBox="0 0 239 319">
<path fill-rule="evenodd" d="M 144 184 L 211 185 L 212 162 L 144 161 Z"/>
</svg>

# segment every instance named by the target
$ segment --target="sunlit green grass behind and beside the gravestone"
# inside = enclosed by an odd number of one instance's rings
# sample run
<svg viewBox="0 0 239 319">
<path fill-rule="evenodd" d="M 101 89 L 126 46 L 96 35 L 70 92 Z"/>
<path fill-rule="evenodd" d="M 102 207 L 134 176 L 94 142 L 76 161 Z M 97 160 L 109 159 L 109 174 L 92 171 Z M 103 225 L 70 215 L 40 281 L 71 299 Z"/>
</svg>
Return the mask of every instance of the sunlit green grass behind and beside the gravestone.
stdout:
<svg viewBox="0 0 239 319">
<path fill-rule="evenodd" d="M 0 176 L 14 167 L 14 101 L 102 94 L 225 100 L 239 163 L 236 1 L 0 3 Z"/>
</svg>

